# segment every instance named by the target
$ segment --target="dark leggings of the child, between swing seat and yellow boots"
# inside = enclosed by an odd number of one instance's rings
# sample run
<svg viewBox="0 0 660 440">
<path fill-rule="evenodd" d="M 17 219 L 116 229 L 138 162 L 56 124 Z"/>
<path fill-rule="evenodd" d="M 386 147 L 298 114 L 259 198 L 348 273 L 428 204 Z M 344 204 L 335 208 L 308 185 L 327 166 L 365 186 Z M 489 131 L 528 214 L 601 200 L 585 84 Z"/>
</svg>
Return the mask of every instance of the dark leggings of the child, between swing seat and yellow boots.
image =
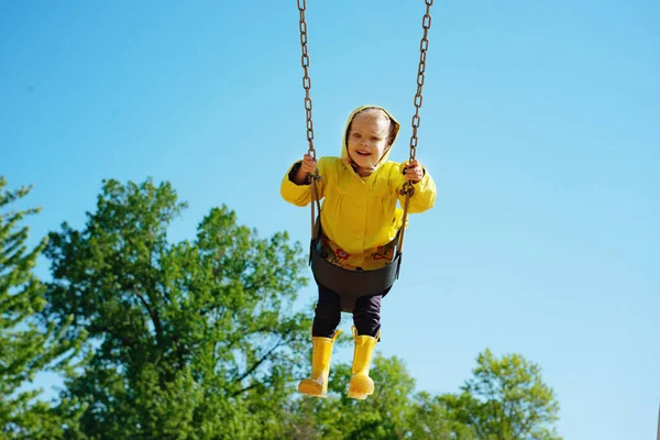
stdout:
<svg viewBox="0 0 660 440">
<path fill-rule="evenodd" d="M 376 337 L 381 330 L 381 299 L 389 289 L 378 295 L 361 296 L 355 301 L 353 323 L 358 334 Z M 331 338 L 341 320 L 339 295 L 319 285 L 319 302 L 316 307 L 311 334 L 314 337 Z"/>
</svg>

